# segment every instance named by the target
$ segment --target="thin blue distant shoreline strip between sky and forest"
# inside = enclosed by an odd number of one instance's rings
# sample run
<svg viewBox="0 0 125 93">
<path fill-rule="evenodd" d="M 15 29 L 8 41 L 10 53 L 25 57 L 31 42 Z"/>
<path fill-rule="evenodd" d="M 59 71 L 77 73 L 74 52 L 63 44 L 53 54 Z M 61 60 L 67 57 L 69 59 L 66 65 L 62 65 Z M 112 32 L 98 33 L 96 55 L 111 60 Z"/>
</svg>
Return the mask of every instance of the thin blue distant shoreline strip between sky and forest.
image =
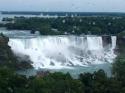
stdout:
<svg viewBox="0 0 125 93">
<path fill-rule="evenodd" d="M 0 11 L 1 14 L 50 15 L 50 16 L 125 16 L 124 12 L 40 12 L 40 11 Z"/>
</svg>

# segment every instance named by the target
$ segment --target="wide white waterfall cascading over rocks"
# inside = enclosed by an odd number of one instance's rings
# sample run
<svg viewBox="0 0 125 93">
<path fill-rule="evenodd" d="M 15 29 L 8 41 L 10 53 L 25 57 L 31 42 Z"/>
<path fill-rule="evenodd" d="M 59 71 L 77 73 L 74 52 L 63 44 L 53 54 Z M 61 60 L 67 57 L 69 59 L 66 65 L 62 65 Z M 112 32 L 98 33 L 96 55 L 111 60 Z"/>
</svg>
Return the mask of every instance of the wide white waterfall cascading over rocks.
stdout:
<svg viewBox="0 0 125 93">
<path fill-rule="evenodd" d="M 9 45 L 16 54 L 28 55 L 38 68 L 63 68 L 112 63 L 116 57 L 116 36 L 104 49 L 101 36 L 37 36 L 11 38 Z M 108 46 L 108 45 L 107 45 Z"/>
</svg>

